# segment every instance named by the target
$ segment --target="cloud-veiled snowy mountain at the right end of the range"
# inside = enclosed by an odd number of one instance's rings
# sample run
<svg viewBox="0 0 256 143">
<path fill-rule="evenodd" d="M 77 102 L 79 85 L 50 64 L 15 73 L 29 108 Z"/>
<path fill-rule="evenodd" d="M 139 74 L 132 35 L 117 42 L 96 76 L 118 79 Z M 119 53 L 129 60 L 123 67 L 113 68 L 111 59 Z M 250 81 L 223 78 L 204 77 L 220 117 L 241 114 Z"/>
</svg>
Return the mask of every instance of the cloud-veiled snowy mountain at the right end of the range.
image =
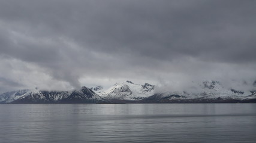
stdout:
<svg viewBox="0 0 256 143">
<path fill-rule="evenodd" d="M 197 87 L 197 88 L 195 88 Z M 144 99 L 144 101 L 156 102 L 217 102 L 221 101 L 242 101 L 256 98 L 256 91 L 238 91 L 226 89 L 218 81 L 203 81 L 194 88 L 184 91 L 158 92 Z M 221 102 L 220 101 L 220 102 Z"/>
</svg>

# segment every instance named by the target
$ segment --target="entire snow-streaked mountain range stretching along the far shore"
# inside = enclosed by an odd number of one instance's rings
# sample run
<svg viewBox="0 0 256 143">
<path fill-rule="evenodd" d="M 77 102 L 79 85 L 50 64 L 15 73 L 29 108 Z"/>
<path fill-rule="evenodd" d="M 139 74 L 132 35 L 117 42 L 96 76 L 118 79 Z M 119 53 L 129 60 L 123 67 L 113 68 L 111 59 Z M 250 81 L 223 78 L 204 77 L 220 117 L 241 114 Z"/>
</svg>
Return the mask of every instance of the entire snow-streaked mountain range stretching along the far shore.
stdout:
<svg viewBox="0 0 256 143">
<path fill-rule="evenodd" d="M 191 88 L 171 91 L 156 90 L 155 85 L 142 85 L 129 80 L 115 83 L 104 90 L 103 86 L 83 86 L 73 91 L 45 91 L 23 89 L 0 95 L 1 104 L 55 104 L 55 103 L 212 103 L 256 102 L 256 90 L 226 89 L 218 81 L 195 83 Z M 256 81 L 252 85 L 256 89 Z"/>
</svg>

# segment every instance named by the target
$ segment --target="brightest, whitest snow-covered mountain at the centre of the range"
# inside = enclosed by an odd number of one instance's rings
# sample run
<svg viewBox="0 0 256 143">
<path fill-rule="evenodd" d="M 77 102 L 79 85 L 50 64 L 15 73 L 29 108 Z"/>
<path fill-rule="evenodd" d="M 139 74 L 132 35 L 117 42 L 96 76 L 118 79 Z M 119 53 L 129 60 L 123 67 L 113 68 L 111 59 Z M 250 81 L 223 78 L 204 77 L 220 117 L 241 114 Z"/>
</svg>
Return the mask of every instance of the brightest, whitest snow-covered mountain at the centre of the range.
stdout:
<svg viewBox="0 0 256 143">
<path fill-rule="evenodd" d="M 110 100 L 141 100 L 153 95 L 155 86 L 149 83 L 135 84 L 131 81 L 116 83 L 107 91 L 100 93 L 101 97 Z"/>
</svg>

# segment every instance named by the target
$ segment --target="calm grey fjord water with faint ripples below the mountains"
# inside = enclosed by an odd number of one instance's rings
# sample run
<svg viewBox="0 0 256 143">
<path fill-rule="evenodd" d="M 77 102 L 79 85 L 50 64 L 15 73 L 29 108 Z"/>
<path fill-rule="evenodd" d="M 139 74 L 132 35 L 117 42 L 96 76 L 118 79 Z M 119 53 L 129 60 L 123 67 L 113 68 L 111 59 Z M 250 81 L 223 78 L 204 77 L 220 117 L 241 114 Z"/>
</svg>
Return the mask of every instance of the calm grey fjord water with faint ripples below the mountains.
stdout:
<svg viewBox="0 0 256 143">
<path fill-rule="evenodd" d="M 255 142 L 256 104 L 2 104 L 0 142 Z"/>
</svg>

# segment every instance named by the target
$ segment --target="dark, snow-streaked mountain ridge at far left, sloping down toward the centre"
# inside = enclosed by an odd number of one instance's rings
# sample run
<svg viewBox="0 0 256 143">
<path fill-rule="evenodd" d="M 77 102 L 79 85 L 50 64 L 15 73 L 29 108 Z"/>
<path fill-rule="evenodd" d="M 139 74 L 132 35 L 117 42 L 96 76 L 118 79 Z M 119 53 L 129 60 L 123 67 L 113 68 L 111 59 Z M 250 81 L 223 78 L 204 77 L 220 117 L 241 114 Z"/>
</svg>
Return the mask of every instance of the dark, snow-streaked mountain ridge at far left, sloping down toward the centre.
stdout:
<svg viewBox="0 0 256 143">
<path fill-rule="evenodd" d="M 74 91 L 20 90 L 0 95 L 2 103 L 96 103 L 106 100 L 83 86 Z M 107 101 L 106 101 L 107 102 Z"/>
</svg>

